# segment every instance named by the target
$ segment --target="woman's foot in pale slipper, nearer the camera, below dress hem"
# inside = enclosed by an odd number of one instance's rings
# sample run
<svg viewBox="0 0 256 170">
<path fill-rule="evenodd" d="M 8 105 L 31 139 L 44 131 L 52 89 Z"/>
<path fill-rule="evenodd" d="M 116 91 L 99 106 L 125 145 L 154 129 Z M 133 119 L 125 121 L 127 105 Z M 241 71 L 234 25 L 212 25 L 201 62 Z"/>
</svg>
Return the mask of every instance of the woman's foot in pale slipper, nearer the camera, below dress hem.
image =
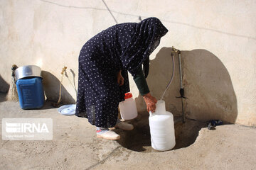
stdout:
<svg viewBox="0 0 256 170">
<path fill-rule="evenodd" d="M 109 130 L 108 128 L 98 128 L 97 127 L 97 137 L 98 138 L 103 138 L 105 140 L 119 140 L 120 135 L 115 133 L 112 130 Z"/>
</svg>

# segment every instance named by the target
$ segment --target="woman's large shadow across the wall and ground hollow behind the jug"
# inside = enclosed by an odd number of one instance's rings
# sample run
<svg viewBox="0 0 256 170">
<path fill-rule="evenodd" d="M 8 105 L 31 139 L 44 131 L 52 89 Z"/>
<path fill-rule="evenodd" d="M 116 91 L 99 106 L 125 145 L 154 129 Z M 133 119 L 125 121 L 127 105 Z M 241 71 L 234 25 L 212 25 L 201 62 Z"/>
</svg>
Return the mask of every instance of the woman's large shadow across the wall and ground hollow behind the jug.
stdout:
<svg viewBox="0 0 256 170">
<path fill-rule="evenodd" d="M 172 74 L 171 47 L 163 47 L 154 60 L 150 61 L 149 84 L 151 95 L 158 100 L 164 93 Z M 238 115 L 237 99 L 228 70 L 218 57 L 208 50 L 181 51 L 181 67 L 183 72 L 183 100 L 186 123 L 182 123 L 180 74 L 178 70 L 178 55 L 174 55 L 175 74 L 171 86 L 166 91 L 164 101 L 166 111 L 174 114 L 176 146 L 174 149 L 188 147 L 196 141 L 201 128 L 207 127 L 208 120 L 223 120 L 235 123 Z M 148 113 L 142 96 L 135 98 L 141 118 L 132 120 L 134 130 L 124 132 L 116 130 L 121 135 L 119 144 L 137 152 L 156 152 L 151 148 Z M 200 120 L 200 121 L 196 121 Z"/>
</svg>

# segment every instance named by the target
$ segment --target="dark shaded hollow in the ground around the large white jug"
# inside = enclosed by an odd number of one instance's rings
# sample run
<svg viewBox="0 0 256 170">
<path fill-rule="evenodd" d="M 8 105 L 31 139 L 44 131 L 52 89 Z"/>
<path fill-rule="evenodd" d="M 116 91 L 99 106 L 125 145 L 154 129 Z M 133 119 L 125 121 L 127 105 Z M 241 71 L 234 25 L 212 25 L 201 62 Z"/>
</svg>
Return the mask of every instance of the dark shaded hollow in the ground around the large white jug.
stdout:
<svg viewBox="0 0 256 170">
<path fill-rule="evenodd" d="M 158 152 L 151 147 L 148 116 L 139 115 L 138 117 L 137 119 L 129 121 L 129 123 L 134 125 L 134 130 L 114 130 L 121 136 L 121 140 L 118 140 L 119 144 L 136 152 Z M 192 145 L 193 142 L 196 141 L 196 137 L 198 137 L 199 130 L 205 127 L 206 123 L 196 120 L 186 120 L 186 123 L 182 123 L 180 117 L 174 117 L 176 137 L 176 146 L 174 149 Z"/>
</svg>

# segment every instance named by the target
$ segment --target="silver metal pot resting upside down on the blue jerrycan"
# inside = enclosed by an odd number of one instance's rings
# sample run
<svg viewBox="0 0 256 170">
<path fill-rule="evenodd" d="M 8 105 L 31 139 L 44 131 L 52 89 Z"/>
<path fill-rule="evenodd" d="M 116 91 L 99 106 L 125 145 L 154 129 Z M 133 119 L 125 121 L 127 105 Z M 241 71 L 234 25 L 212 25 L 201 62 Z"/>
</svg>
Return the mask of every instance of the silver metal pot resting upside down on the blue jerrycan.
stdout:
<svg viewBox="0 0 256 170">
<path fill-rule="evenodd" d="M 36 65 L 26 65 L 23 67 L 18 67 L 15 70 L 15 79 L 23 79 L 25 77 L 41 77 L 41 68 Z"/>
</svg>

